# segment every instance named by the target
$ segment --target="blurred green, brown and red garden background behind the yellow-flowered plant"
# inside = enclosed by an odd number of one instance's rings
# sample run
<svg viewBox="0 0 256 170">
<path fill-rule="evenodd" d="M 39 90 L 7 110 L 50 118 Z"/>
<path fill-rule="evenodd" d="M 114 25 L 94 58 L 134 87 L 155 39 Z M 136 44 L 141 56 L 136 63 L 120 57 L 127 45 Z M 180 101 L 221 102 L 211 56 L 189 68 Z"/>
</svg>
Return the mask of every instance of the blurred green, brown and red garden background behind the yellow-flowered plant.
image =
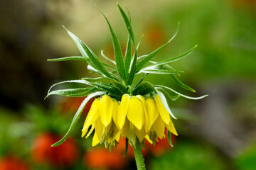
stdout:
<svg viewBox="0 0 256 170">
<path fill-rule="evenodd" d="M 48 88 L 58 81 L 95 76 L 83 62 L 46 61 L 80 55 L 62 25 L 99 57 L 100 50 L 113 57 L 107 23 L 95 4 L 125 47 L 127 30 L 116 1 L 0 1 L 0 170 L 134 169 L 132 157 L 122 159 L 122 152 L 105 153 L 100 147 L 94 150 L 91 139 L 80 139 L 85 116 L 65 146 L 49 147 L 68 129 L 80 98 L 44 100 Z M 178 89 L 164 76 L 150 75 L 146 80 L 190 96 L 209 94 L 201 101 L 170 102 L 179 136 L 173 149 L 151 149 L 145 156 L 147 168 L 256 169 L 256 1 L 119 4 L 129 8 L 137 40 L 144 34 L 139 55 L 169 40 L 178 21 L 178 35 L 154 60 L 175 57 L 198 44 L 191 55 L 172 64 L 185 71 L 180 78 L 196 94 Z"/>
</svg>

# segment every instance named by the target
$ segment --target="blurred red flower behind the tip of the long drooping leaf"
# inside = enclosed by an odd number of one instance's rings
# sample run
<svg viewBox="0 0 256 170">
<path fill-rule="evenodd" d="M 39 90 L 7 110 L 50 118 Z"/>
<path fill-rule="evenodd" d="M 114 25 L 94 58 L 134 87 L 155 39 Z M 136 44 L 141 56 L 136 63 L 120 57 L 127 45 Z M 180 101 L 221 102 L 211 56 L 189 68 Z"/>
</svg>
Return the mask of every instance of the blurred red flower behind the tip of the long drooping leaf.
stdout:
<svg viewBox="0 0 256 170">
<path fill-rule="evenodd" d="M 78 147 L 68 138 L 58 147 L 50 147 L 60 138 L 50 133 L 39 135 L 33 142 L 32 157 L 36 163 L 50 163 L 55 166 L 68 166 L 78 158 Z"/>
</svg>

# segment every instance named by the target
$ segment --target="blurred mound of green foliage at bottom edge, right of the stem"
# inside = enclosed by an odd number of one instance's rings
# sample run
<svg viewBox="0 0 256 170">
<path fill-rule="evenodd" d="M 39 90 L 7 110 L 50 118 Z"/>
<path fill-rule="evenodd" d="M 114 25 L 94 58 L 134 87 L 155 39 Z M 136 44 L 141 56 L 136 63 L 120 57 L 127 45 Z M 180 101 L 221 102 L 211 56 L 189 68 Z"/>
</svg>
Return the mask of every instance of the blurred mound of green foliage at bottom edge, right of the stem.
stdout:
<svg viewBox="0 0 256 170">
<path fill-rule="evenodd" d="M 212 147 L 196 142 L 179 142 L 171 152 L 151 159 L 152 170 L 222 170 L 227 169 L 223 159 Z"/>
</svg>

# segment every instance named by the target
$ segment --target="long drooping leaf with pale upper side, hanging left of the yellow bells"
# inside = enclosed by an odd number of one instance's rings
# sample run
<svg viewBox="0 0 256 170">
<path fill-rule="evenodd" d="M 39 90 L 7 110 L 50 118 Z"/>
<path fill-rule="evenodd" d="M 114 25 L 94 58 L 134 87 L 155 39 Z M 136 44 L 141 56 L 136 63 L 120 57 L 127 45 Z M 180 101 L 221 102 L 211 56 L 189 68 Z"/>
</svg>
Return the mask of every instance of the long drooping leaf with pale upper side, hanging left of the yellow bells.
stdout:
<svg viewBox="0 0 256 170">
<path fill-rule="evenodd" d="M 80 118 L 80 115 L 81 115 L 83 109 L 85 108 L 86 103 L 88 101 L 90 101 L 91 98 L 94 98 L 95 96 L 102 96 L 103 94 L 105 94 L 104 91 L 98 91 L 98 92 L 95 92 L 93 94 L 90 94 L 89 96 L 87 96 L 87 98 L 85 98 L 84 101 L 82 101 L 80 107 L 78 108 L 78 111 L 75 113 L 75 116 L 74 116 L 74 118 L 73 118 L 73 120 L 70 124 L 70 128 L 68 129 L 68 132 L 65 134 L 65 136 L 61 140 L 59 140 L 55 144 L 51 145 L 52 147 L 57 147 L 58 145 L 61 145 L 66 140 L 66 138 L 68 137 L 70 132 L 75 127 L 75 124 L 78 122 L 78 119 Z"/>
</svg>

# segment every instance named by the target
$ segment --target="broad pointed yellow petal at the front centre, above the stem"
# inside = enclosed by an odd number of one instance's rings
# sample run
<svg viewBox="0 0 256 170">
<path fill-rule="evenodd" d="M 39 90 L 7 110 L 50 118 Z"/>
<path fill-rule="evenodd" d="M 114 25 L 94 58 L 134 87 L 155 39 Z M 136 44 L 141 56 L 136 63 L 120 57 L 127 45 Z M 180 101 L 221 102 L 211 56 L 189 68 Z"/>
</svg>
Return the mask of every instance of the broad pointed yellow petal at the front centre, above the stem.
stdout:
<svg viewBox="0 0 256 170">
<path fill-rule="evenodd" d="M 142 130 L 145 121 L 144 109 L 142 102 L 136 96 L 131 97 L 127 118 L 138 130 Z"/>
</svg>

